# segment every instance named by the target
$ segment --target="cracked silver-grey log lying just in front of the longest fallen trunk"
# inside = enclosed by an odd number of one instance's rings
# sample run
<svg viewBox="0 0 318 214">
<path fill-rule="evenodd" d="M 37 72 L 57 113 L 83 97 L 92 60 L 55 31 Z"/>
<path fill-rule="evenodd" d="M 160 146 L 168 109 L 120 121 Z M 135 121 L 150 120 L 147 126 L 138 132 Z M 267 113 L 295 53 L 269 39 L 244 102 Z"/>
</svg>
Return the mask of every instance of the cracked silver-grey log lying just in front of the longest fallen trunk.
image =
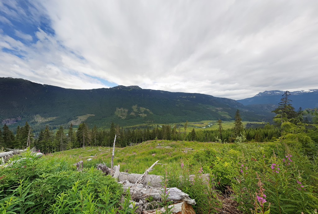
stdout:
<svg viewBox="0 0 318 214">
<path fill-rule="evenodd" d="M 130 190 L 130 194 L 132 196 L 132 199 L 145 199 L 148 197 L 152 197 L 155 201 L 162 200 L 160 197 L 160 194 L 162 194 L 162 191 L 164 189 L 162 188 L 156 188 L 156 187 L 149 187 L 145 188 L 142 184 L 135 184 L 135 183 L 124 183 L 123 189 L 127 191 Z M 194 199 L 191 199 L 188 194 L 182 192 L 176 187 L 167 188 L 167 191 L 169 193 L 168 200 L 173 202 L 180 202 L 185 201 L 188 204 L 196 204 Z"/>
</svg>

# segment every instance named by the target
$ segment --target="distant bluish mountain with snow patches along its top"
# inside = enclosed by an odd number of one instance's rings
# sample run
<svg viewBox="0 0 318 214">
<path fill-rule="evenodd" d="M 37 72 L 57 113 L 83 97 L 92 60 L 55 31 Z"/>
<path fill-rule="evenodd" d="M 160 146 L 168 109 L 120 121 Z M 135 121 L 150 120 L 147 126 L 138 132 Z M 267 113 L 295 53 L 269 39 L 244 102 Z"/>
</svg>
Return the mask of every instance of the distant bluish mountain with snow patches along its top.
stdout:
<svg viewBox="0 0 318 214">
<path fill-rule="evenodd" d="M 254 97 L 237 100 L 243 105 L 258 105 L 258 104 L 273 104 L 277 105 L 282 98 L 284 91 L 264 91 L 256 94 Z M 290 92 L 289 99 L 292 100 L 291 104 L 297 110 L 299 107 L 318 108 L 318 89 L 308 91 L 294 91 Z"/>
</svg>

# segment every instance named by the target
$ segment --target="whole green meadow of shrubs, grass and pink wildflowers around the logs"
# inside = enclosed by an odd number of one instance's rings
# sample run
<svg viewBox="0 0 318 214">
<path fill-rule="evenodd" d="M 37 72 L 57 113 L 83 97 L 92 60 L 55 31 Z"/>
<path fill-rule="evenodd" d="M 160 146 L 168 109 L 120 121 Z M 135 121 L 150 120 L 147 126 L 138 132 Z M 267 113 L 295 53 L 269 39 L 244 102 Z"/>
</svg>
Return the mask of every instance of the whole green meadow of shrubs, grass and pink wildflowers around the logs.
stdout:
<svg viewBox="0 0 318 214">
<path fill-rule="evenodd" d="M 154 140 L 115 148 L 114 164 L 139 174 L 157 160 L 167 164 L 150 173 L 195 199 L 196 213 L 314 214 L 315 142 L 298 126 L 284 125 L 289 132 L 275 142 L 246 143 L 243 134 L 235 143 Z M 110 167 L 111 150 L 76 148 L 42 158 L 28 151 L 14 157 L 12 165 L 0 167 L 0 213 L 134 213 L 128 207 L 130 195 L 121 200 L 121 186 L 96 169 L 99 163 Z M 84 169 L 79 172 L 73 164 L 81 160 Z M 208 182 L 202 177 L 206 173 Z"/>
</svg>

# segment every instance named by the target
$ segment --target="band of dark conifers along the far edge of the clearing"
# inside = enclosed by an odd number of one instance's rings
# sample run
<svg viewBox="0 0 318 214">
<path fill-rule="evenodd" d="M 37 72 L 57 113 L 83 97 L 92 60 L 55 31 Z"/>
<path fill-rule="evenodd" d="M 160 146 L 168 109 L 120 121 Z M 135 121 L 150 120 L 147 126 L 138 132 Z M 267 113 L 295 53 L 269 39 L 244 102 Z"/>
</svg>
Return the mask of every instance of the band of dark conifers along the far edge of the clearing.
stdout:
<svg viewBox="0 0 318 214">
<path fill-rule="evenodd" d="M 0 128 L 0 148 L 26 148 L 28 146 L 35 147 L 44 153 L 58 152 L 66 149 L 80 148 L 86 146 L 111 146 L 115 135 L 116 145 L 125 147 L 136 143 L 149 140 L 172 140 L 172 141 L 198 141 L 198 142 L 234 142 L 237 136 L 245 134 L 246 140 L 249 142 L 267 142 L 278 139 L 282 135 L 282 127 L 284 121 L 290 121 L 294 124 L 307 124 L 306 131 L 312 139 L 318 140 L 315 134 L 317 130 L 314 126 L 310 126 L 308 119 L 304 120 L 304 113 L 300 108 L 295 111 L 288 99 L 290 93 L 286 91 L 273 112 L 276 114 L 274 122 L 276 125 L 254 125 L 243 127 L 239 110 L 236 111 L 234 127 L 232 129 L 223 129 L 222 120 L 218 120 L 218 129 L 215 130 L 195 130 L 194 128 L 187 132 L 188 122 L 183 126 L 178 125 L 162 125 L 149 129 L 133 129 L 123 128 L 112 122 L 109 130 L 101 130 L 94 126 L 88 128 L 85 123 L 81 123 L 78 130 L 73 130 L 73 124 L 68 129 L 62 126 L 54 133 L 47 125 L 38 135 L 34 136 L 31 126 L 28 122 L 23 127 L 18 126 L 16 135 L 10 131 L 7 125 Z M 311 112 L 313 115 L 313 123 L 318 123 L 317 111 Z M 316 139 L 317 138 L 317 139 Z"/>
</svg>

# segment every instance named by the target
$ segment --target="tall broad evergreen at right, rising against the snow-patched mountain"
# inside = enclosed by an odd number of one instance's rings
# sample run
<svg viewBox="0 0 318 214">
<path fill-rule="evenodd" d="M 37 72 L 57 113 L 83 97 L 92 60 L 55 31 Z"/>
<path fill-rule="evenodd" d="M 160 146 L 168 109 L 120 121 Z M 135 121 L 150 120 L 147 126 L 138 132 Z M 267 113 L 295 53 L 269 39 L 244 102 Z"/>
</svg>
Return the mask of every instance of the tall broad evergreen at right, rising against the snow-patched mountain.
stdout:
<svg viewBox="0 0 318 214">
<path fill-rule="evenodd" d="M 296 118 L 297 113 L 295 112 L 295 108 L 290 104 L 292 100 L 289 100 L 288 97 L 290 96 L 290 92 L 286 91 L 282 95 L 280 102 L 278 103 L 278 107 L 272 111 L 276 114 L 274 117 L 274 121 L 276 123 L 283 123 L 292 118 Z"/>
</svg>

